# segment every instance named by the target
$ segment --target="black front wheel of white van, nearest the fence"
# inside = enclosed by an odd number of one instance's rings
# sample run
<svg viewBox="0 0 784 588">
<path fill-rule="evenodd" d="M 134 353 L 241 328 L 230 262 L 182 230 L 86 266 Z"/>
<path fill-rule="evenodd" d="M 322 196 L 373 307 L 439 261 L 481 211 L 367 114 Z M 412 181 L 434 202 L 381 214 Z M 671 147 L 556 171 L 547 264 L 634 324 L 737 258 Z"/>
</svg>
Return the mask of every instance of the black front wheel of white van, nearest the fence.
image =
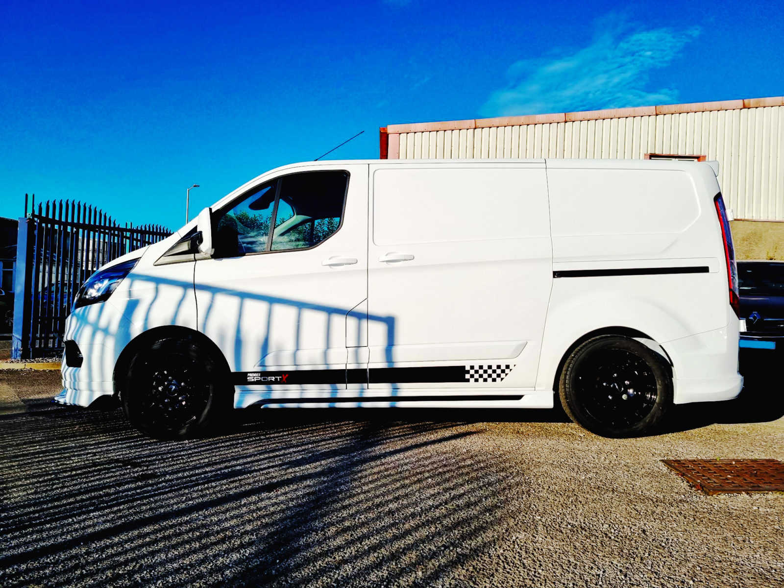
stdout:
<svg viewBox="0 0 784 588">
<path fill-rule="evenodd" d="M 187 439 L 225 414 L 228 375 L 221 377 L 204 347 L 191 338 L 163 337 L 132 358 L 120 401 L 137 430 L 156 439 Z"/>
</svg>

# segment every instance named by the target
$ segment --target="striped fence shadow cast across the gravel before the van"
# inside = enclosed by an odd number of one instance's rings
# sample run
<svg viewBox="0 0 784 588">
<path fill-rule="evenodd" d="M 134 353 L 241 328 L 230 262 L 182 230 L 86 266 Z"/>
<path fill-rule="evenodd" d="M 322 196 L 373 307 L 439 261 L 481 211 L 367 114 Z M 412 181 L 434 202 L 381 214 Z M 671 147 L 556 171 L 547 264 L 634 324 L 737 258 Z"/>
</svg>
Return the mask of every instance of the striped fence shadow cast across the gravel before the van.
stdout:
<svg viewBox="0 0 784 588">
<path fill-rule="evenodd" d="M 432 586 L 508 517 L 519 474 L 476 426 L 264 413 L 184 442 L 119 410 L 6 420 L 0 585 Z"/>
</svg>

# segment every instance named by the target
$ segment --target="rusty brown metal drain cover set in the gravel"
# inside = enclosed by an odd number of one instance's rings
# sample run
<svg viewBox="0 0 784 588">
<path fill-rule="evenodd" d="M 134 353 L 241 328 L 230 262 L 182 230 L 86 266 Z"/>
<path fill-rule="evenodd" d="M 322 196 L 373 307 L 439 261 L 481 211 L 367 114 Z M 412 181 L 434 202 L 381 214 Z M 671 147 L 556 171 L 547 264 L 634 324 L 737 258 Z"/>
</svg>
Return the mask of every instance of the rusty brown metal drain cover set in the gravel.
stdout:
<svg viewBox="0 0 784 588">
<path fill-rule="evenodd" d="M 778 459 L 662 459 L 706 494 L 784 492 L 784 463 Z"/>
</svg>

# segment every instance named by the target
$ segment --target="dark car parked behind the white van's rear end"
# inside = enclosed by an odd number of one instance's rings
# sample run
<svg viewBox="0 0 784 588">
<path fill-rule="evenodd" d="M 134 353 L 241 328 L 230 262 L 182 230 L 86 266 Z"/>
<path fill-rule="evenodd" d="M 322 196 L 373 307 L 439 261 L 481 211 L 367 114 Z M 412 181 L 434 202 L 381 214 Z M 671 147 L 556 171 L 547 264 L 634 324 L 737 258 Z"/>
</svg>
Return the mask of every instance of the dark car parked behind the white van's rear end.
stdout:
<svg viewBox="0 0 784 588">
<path fill-rule="evenodd" d="M 784 262 L 739 261 L 740 347 L 784 349 Z"/>
</svg>

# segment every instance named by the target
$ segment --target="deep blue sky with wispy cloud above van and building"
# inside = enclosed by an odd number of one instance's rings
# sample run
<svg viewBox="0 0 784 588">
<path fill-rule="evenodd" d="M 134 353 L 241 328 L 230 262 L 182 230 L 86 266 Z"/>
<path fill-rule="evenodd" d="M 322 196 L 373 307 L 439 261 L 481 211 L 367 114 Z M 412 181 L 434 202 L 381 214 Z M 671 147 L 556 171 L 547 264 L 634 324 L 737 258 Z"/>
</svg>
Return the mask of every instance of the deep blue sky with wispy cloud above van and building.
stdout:
<svg viewBox="0 0 784 588">
<path fill-rule="evenodd" d="M 778 2 L 0 3 L 0 216 L 184 220 L 398 122 L 784 93 Z"/>
</svg>

